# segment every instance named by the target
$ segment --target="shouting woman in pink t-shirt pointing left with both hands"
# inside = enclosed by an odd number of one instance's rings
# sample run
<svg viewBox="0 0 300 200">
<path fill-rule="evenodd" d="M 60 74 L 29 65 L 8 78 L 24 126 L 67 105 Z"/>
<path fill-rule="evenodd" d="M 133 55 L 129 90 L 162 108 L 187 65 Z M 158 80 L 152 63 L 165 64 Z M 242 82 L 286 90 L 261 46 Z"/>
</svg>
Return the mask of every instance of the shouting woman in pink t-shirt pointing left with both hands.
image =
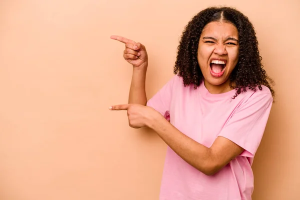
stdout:
<svg viewBox="0 0 300 200">
<path fill-rule="evenodd" d="M 273 102 L 248 18 L 233 8 L 209 7 L 185 27 L 174 75 L 146 99 L 147 53 L 120 37 L 133 65 L 129 125 L 148 126 L 168 145 L 159 199 L 251 199 L 251 164 Z"/>
</svg>

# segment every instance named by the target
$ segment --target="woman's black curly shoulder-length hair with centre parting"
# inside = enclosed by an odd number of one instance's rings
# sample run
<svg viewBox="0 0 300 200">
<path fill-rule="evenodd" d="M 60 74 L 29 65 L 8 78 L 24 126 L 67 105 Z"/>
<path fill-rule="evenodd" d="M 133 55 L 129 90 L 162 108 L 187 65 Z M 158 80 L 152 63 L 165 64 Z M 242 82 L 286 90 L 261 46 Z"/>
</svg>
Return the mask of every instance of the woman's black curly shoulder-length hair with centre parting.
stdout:
<svg viewBox="0 0 300 200">
<path fill-rule="evenodd" d="M 261 64 L 253 25 L 248 17 L 232 7 L 208 7 L 188 22 L 179 41 L 174 74 L 183 78 L 184 86 L 192 83 L 196 89 L 200 85 L 203 75 L 197 61 L 199 37 L 207 23 L 221 20 L 235 25 L 239 37 L 238 62 L 229 77 L 230 87 L 236 90 L 232 98 L 245 92 L 246 87 L 251 90 L 258 87 L 261 90 L 261 85 L 267 86 L 274 97 L 275 92 L 271 87 L 273 80 Z"/>
</svg>

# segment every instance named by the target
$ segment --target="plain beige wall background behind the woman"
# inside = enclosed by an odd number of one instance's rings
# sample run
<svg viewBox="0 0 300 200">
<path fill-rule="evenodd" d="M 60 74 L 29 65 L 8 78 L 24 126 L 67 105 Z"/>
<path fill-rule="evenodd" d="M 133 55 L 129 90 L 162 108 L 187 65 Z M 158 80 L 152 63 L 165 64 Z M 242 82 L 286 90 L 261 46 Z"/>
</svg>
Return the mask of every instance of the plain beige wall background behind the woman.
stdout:
<svg viewBox="0 0 300 200">
<path fill-rule="evenodd" d="M 183 26 L 208 5 L 250 18 L 276 81 L 253 199 L 300 199 L 299 0 L 1 0 L 0 199 L 158 199 L 166 145 L 108 110 L 126 103 L 131 79 L 109 36 L 146 46 L 151 97 L 172 76 Z"/>
</svg>

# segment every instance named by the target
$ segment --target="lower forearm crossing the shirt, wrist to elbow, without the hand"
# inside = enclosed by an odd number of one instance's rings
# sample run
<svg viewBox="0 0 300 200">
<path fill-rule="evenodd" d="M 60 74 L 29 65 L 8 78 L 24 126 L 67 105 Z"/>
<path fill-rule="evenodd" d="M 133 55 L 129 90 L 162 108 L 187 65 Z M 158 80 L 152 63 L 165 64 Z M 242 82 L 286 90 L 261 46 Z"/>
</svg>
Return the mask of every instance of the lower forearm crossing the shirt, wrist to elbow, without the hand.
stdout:
<svg viewBox="0 0 300 200">
<path fill-rule="evenodd" d="M 163 117 L 152 120 L 148 126 L 187 163 L 207 175 L 215 172 L 216 162 L 208 147 L 186 136 Z"/>
</svg>

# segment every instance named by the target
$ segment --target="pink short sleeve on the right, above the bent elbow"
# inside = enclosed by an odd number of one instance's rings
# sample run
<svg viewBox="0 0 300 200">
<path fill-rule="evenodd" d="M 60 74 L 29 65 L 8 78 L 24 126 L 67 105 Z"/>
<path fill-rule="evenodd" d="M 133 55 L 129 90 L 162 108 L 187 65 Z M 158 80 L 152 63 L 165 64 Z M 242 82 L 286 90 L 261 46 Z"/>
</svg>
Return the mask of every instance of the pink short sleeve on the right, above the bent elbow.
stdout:
<svg viewBox="0 0 300 200">
<path fill-rule="evenodd" d="M 246 102 L 237 108 L 225 124 L 218 136 L 223 136 L 244 151 L 240 154 L 246 157 L 254 157 L 261 141 L 273 98 L 270 93 L 254 94 Z"/>
</svg>

